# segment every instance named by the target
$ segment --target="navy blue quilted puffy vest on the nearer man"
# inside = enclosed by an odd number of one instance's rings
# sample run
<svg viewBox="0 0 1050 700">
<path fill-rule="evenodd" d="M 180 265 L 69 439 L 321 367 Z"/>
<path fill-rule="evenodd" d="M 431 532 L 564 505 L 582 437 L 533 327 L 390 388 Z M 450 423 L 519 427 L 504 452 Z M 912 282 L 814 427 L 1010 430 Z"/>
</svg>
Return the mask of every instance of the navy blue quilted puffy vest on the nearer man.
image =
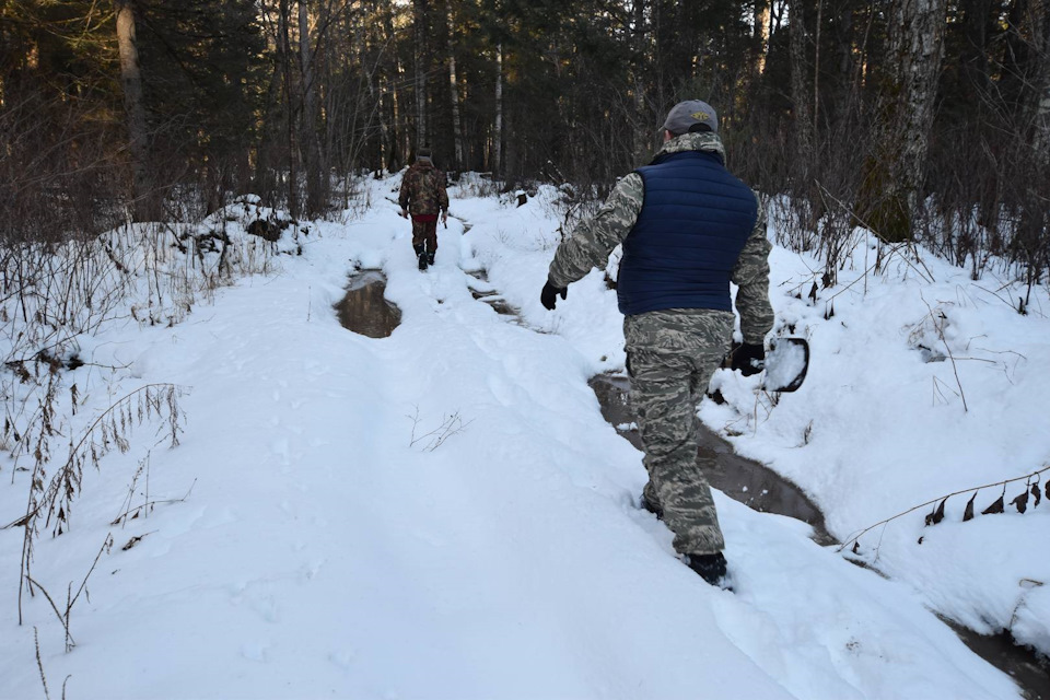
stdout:
<svg viewBox="0 0 1050 700">
<path fill-rule="evenodd" d="M 669 153 L 637 172 L 645 200 L 623 241 L 620 312 L 732 311 L 730 277 L 758 220 L 755 194 L 712 152 Z"/>
</svg>

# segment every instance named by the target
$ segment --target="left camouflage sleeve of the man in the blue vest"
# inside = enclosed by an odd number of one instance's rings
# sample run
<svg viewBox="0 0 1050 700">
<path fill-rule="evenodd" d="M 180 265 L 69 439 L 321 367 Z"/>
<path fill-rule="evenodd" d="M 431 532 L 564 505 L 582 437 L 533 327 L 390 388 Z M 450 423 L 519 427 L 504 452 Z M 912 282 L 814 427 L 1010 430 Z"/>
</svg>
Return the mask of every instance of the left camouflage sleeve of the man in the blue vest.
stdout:
<svg viewBox="0 0 1050 700">
<path fill-rule="evenodd" d="M 580 223 L 572 236 L 562 241 L 550 264 L 547 279 L 555 287 L 569 287 L 593 268 L 605 268 L 612 248 L 634 228 L 645 197 L 645 183 L 631 173 L 612 188 L 594 218 Z"/>
</svg>

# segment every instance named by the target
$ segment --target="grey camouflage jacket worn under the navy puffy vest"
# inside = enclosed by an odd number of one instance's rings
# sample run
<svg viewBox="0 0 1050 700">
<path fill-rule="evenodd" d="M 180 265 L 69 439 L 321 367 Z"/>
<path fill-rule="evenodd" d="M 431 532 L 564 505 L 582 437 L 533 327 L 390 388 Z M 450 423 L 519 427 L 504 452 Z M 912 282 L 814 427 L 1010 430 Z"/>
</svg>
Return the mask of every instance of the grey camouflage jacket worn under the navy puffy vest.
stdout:
<svg viewBox="0 0 1050 700">
<path fill-rule="evenodd" d="M 725 158 L 722 139 L 715 133 L 684 133 L 664 143 L 656 155 L 682 151 L 705 151 Z M 758 195 L 755 195 L 758 199 Z M 580 223 L 571 237 L 562 242 L 550 264 L 548 280 L 558 288 L 582 279 L 593 268 L 605 269 L 609 255 L 634 228 L 645 202 L 645 184 L 639 173 L 631 173 L 617 183 L 598 212 Z M 761 343 L 773 326 L 773 311 L 769 304 L 769 253 L 772 246 L 766 237 L 766 209 L 758 202 L 758 221 L 733 269 L 732 281 L 739 289 L 736 310 L 740 314 L 744 341 Z M 668 310 L 670 315 L 710 315 L 707 308 Z M 650 312 L 640 316 L 668 315 Z"/>
</svg>

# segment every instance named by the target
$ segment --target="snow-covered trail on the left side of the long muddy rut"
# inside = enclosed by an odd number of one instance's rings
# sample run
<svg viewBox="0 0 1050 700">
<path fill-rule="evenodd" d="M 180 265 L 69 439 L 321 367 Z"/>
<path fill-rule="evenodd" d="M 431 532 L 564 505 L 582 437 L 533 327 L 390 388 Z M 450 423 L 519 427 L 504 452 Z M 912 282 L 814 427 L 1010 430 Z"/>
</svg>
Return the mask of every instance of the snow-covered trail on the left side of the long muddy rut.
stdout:
<svg viewBox="0 0 1050 700">
<path fill-rule="evenodd" d="M 592 361 L 474 300 L 460 230 L 420 275 L 381 207 L 183 325 L 98 340 L 96 361 L 131 362 L 121 387 L 192 387 L 150 490 L 196 483 L 118 529 L 141 455 L 90 475 L 36 562 L 61 590 L 114 530 L 69 654 L 39 598 L 15 626 L 21 538 L 0 533 L 0 697 L 40 696 L 33 626 L 70 700 L 1016 697 L 914 594 L 804 524 L 718 494 L 736 594 L 678 562 L 633 505 L 640 454 L 603 420 Z M 384 269 L 402 312 L 389 338 L 339 327 L 351 261 Z M 448 416 L 462 427 L 442 444 L 410 444 Z"/>
</svg>

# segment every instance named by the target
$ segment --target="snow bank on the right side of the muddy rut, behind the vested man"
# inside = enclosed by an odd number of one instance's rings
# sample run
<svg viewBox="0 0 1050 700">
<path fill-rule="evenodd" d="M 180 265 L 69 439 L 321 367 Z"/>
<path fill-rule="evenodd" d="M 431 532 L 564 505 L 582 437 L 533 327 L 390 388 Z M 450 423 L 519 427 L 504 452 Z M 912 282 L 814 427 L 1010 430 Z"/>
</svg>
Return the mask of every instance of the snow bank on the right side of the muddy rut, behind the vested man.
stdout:
<svg viewBox="0 0 1050 700">
<path fill-rule="evenodd" d="M 488 202 L 457 207 L 479 208 L 475 218 L 485 223 L 470 233 L 476 257 L 530 326 L 565 337 L 595 372 L 621 370 L 621 317 L 602 272 L 571 285 L 555 312 L 539 305 L 537 284 L 559 237 L 557 197 L 542 189 L 528 205 L 533 214 L 508 207 L 491 214 Z M 818 260 L 779 246 L 771 255 L 774 335 L 810 343 L 804 386 L 774 402 L 757 390 L 759 377 L 720 371 L 712 390 L 728 402 L 707 400 L 700 417 L 737 452 L 805 489 L 842 540 L 962 491 L 935 527 L 924 527 L 930 506 L 865 535 L 860 558 L 910 583 L 940 614 L 981 632 L 1008 629 L 1050 654 L 1050 616 L 1039 605 L 1050 562 L 1032 553 L 1050 532 L 1050 502 L 1029 502 L 1025 514 L 1010 508 L 1026 488 L 1022 480 L 1006 490 L 1006 514 L 961 522 L 975 487 L 999 485 L 978 493 L 979 514 L 1003 492 L 1002 481 L 1050 466 L 1048 290 L 1034 288 L 1022 316 L 1014 306 L 1029 294 L 1024 285 L 992 275 L 975 281 L 929 253 L 914 260 L 879 250 L 866 232 L 854 236 L 838 283 L 827 289 Z"/>
</svg>

